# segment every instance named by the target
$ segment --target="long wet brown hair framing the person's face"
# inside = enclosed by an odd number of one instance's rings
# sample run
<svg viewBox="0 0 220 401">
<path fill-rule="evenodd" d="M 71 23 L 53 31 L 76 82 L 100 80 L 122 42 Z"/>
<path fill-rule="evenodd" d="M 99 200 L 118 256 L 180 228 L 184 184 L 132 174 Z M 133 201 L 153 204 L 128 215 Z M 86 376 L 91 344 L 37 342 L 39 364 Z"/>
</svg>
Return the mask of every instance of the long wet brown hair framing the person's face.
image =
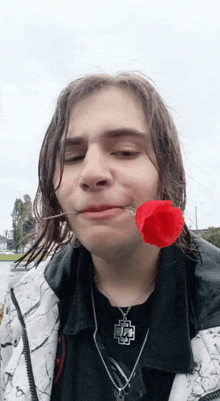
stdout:
<svg viewBox="0 0 220 401">
<path fill-rule="evenodd" d="M 35 244 L 27 252 L 28 263 L 38 256 L 38 263 L 44 256 L 56 253 L 62 247 L 72 242 L 75 235 L 71 231 L 65 216 L 51 220 L 45 217 L 62 213 L 53 186 L 53 177 L 58 151 L 60 151 L 60 182 L 63 173 L 64 141 L 67 134 L 70 113 L 74 105 L 106 87 L 119 87 L 132 91 L 141 100 L 150 130 L 153 149 L 156 155 L 161 199 L 171 200 L 173 206 L 182 211 L 186 203 L 186 183 L 180 144 L 173 119 L 154 86 L 143 74 L 119 73 L 115 76 L 94 74 L 84 76 L 71 82 L 61 92 L 50 125 L 42 144 L 39 158 L 39 185 L 34 201 L 34 212 L 38 222 L 39 233 Z M 60 185 L 60 182 L 58 186 Z M 183 231 L 174 243 L 182 251 L 193 251 L 191 233 L 184 224 Z M 25 255 L 21 258 L 21 260 Z"/>
</svg>

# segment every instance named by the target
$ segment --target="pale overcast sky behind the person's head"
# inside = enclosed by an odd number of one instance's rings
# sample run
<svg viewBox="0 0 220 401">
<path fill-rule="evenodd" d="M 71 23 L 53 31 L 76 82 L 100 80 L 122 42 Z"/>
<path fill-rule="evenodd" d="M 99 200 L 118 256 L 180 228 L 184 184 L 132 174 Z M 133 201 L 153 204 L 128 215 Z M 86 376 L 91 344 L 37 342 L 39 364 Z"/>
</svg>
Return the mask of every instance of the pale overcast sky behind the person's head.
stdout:
<svg viewBox="0 0 220 401">
<path fill-rule="evenodd" d="M 37 188 L 56 98 L 96 72 L 143 72 L 172 108 L 187 174 L 186 222 L 220 226 L 220 1 L 0 1 L 0 234 Z"/>
</svg>

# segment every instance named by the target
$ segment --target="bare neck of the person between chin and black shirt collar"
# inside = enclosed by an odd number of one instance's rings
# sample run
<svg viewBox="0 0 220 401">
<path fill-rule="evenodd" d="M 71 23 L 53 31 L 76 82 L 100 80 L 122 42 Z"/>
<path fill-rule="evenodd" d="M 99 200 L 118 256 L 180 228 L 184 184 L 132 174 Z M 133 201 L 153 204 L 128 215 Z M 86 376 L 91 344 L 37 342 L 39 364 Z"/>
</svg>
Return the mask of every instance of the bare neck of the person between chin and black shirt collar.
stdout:
<svg viewBox="0 0 220 401">
<path fill-rule="evenodd" d="M 160 249 L 149 244 L 117 259 L 92 255 L 96 287 L 113 306 L 141 304 L 154 291 L 159 257 Z"/>
</svg>

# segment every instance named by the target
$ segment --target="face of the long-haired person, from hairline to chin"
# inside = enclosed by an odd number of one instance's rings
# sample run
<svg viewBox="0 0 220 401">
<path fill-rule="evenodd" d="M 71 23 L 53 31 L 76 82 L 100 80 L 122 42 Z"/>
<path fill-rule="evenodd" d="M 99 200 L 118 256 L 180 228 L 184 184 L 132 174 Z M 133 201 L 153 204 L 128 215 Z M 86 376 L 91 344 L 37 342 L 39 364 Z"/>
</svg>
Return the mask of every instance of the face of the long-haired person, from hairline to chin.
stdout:
<svg viewBox="0 0 220 401">
<path fill-rule="evenodd" d="M 140 133 L 140 135 L 138 135 Z M 106 88 L 72 110 L 64 171 L 56 196 L 64 212 L 91 206 L 118 206 L 106 212 L 68 215 L 76 237 L 91 253 L 142 243 L 135 219 L 123 206 L 137 208 L 159 199 L 158 171 L 140 101 L 125 89 Z M 59 182 L 59 160 L 54 186 Z"/>
</svg>

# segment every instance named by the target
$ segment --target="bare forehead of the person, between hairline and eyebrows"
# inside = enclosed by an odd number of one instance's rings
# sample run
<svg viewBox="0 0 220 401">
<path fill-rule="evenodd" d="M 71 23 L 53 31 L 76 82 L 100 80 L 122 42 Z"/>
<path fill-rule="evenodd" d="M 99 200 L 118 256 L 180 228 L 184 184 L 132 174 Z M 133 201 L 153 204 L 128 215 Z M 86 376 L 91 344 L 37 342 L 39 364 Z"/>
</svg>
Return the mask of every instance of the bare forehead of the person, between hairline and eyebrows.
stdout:
<svg viewBox="0 0 220 401">
<path fill-rule="evenodd" d="M 90 94 L 73 107 L 67 137 L 92 138 L 115 130 L 146 135 L 147 123 L 142 103 L 132 91 L 110 87 Z"/>
</svg>

